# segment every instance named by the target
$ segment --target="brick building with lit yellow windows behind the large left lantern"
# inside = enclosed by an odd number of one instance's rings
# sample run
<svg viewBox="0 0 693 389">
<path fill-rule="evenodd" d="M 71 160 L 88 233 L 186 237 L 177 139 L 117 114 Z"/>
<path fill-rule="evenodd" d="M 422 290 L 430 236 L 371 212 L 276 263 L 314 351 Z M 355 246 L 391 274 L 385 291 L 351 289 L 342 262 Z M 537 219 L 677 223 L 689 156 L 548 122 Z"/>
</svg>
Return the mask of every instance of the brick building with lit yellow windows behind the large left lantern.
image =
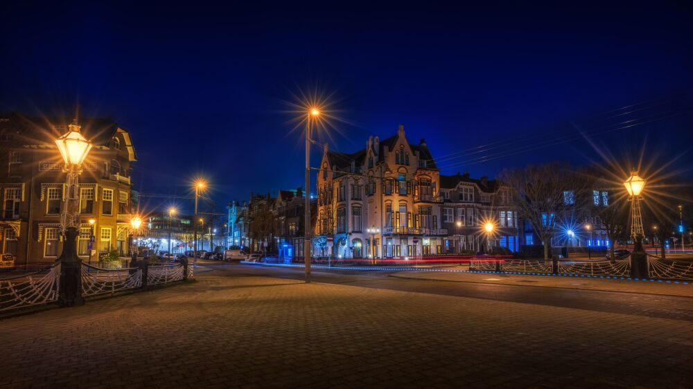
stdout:
<svg viewBox="0 0 693 389">
<path fill-rule="evenodd" d="M 0 116 L 0 172 L 3 253 L 17 264 L 54 261 L 62 252 L 60 212 L 64 207 L 66 174 L 55 139 L 69 130 L 72 118 Z M 78 255 L 87 259 L 89 246 L 105 253 L 129 251 L 132 163 L 137 161 L 130 132 L 113 120 L 82 118 L 76 128 L 94 143 L 82 166 Z M 7 157 L 5 157 L 7 156 Z M 94 219 L 92 226 L 89 219 Z"/>
</svg>

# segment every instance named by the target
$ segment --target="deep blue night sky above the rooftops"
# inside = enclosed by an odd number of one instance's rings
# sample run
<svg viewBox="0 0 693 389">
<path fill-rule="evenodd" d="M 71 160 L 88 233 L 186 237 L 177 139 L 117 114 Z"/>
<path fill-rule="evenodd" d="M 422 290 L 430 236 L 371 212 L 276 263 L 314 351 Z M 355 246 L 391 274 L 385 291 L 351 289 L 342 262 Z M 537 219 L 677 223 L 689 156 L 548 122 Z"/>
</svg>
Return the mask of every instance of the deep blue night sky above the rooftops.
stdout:
<svg viewBox="0 0 693 389">
<path fill-rule="evenodd" d="M 3 6 L 0 111 L 69 112 L 79 98 L 84 115 L 112 116 L 132 132 L 138 190 L 186 194 L 189 179 L 204 174 L 220 204 L 302 185 L 301 134 L 288 134 L 282 113 L 298 89 L 335 92 L 340 116 L 354 123 L 340 125 L 337 150 L 403 124 L 412 143 L 426 138 L 443 156 L 599 127 L 589 119 L 680 93 L 685 100 L 693 86 L 685 2 L 22 3 Z M 692 124 L 688 114 L 596 139 L 635 158 L 647 135 L 646 150 L 666 158 L 688 150 Z M 594 154 L 579 140 L 440 165 L 480 177 Z M 317 165 L 319 150 L 314 156 Z M 690 165 L 688 152 L 672 169 Z"/>
</svg>

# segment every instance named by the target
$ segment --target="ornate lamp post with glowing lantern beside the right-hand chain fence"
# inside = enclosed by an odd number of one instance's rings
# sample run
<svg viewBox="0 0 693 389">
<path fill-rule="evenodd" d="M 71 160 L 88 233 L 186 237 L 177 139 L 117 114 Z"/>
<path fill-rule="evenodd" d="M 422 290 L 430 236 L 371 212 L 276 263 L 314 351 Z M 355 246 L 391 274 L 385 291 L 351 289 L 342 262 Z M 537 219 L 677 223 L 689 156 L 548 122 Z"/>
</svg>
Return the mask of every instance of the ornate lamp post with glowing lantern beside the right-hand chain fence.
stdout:
<svg viewBox="0 0 693 389">
<path fill-rule="evenodd" d="M 648 278 L 647 254 L 642 248 L 642 215 L 640 215 L 640 193 L 645 186 L 645 180 L 638 177 L 638 172 L 631 172 L 631 177 L 623 183 L 631 197 L 631 237 L 634 247 L 631 254 L 631 277 Z M 612 242 L 613 244 L 613 242 Z"/>
</svg>

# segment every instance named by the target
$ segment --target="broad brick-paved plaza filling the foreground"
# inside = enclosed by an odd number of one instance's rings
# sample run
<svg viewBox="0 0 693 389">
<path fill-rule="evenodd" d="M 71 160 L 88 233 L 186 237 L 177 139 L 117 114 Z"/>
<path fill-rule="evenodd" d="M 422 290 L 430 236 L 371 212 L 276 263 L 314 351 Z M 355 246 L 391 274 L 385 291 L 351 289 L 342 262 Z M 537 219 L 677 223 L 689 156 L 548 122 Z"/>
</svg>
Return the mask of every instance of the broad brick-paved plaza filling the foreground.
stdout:
<svg viewBox="0 0 693 389">
<path fill-rule="evenodd" d="M 209 269 L 2 320 L 0 347 L 9 388 L 693 386 L 687 320 Z"/>
</svg>

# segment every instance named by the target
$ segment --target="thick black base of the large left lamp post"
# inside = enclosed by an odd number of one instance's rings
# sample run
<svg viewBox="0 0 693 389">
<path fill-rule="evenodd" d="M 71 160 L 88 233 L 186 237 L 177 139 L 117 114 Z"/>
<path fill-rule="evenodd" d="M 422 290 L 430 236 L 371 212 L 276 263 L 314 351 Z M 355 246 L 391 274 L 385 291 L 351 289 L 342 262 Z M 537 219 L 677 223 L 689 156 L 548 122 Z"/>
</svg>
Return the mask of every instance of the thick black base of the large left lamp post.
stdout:
<svg viewBox="0 0 693 389">
<path fill-rule="evenodd" d="M 77 228 L 68 227 L 65 230 L 62 253 L 56 260 L 60 262 L 60 307 L 78 307 L 85 303 L 82 297 L 82 260 L 77 256 L 76 240 Z"/>
</svg>

